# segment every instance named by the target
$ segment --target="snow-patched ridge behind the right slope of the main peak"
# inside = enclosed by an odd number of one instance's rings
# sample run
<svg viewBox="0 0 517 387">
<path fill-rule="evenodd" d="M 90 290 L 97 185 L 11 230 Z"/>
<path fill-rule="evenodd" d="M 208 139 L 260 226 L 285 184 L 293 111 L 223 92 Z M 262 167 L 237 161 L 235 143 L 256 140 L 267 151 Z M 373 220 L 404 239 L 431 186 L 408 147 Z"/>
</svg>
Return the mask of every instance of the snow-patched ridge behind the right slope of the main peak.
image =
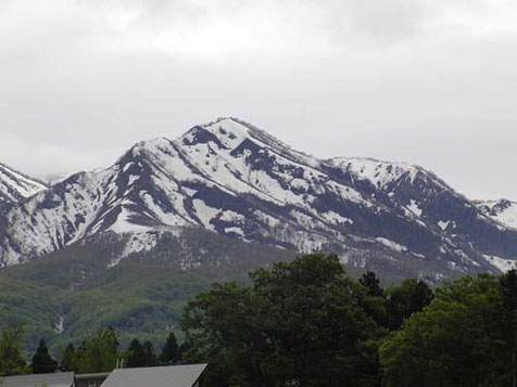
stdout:
<svg viewBox="0 0 517 387">
<path fill-rule="evenodd" d="M 481 251 L 514 257 L 516 241 L 508 222 L 504 228 L 491 220 L 502 220 L 479 208 L 434 173 L 402 163 L 375 159 L 336 158 L 330 160 L 360 179 L 370 182 L 428 228 L 462 240 Z M 481 209 L 481 210 L 480 210 Z M 509 219 L 509 215 L 508 215 Z M 475 240 L 475 241 L 472 241 Z M 497 246 L 493 241 L 500 241 Z"/>
</svg>

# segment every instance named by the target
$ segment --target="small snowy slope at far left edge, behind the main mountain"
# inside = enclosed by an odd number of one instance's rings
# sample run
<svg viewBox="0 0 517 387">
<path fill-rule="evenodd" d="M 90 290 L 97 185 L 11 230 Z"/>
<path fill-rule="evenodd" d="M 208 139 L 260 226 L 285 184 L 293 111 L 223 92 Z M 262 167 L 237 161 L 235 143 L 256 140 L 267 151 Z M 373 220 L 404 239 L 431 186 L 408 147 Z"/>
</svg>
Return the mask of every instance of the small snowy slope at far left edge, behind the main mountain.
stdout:
<svg viewBox="0 0 517 387">
<path fill-rule="evenodd" d="M 37 179 L 0 163 L 0 203 L 18 202 L 46 189 Z"/>
</svg>

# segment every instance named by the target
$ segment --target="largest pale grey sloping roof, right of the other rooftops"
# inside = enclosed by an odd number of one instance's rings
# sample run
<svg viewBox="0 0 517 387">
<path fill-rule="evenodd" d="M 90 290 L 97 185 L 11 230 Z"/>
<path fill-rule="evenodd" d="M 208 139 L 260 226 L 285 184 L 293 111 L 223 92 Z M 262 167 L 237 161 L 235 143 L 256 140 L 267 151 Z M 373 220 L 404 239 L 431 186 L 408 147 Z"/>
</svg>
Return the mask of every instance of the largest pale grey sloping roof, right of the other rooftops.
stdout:
<svg viewBox="0 0 517 387">
<path fill-rule="evenodd" d="M 206 364 L 115 370 L 101 387 L 192 387 Z"/>
</svg>

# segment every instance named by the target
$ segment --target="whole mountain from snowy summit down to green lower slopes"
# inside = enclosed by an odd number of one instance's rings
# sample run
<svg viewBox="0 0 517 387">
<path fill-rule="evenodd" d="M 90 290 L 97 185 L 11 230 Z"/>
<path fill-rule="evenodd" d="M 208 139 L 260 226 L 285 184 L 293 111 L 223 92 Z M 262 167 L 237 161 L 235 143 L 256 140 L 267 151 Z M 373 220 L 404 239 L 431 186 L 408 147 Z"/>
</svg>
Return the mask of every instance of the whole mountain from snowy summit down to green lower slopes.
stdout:
<svg viewBox="0 0 517 387">
<path fill-rule="evenodd" d="M 301 253 L 431 284 L 517 262 L 512 203 L 471 202 L 418 166 L 318 159 L 237 118 L 48 188 L 17 176 L 0 211 L 0 318 L 25 321 L 30 343 L 96 325 L 163 337 L 214 281 Z"/>
</svg>

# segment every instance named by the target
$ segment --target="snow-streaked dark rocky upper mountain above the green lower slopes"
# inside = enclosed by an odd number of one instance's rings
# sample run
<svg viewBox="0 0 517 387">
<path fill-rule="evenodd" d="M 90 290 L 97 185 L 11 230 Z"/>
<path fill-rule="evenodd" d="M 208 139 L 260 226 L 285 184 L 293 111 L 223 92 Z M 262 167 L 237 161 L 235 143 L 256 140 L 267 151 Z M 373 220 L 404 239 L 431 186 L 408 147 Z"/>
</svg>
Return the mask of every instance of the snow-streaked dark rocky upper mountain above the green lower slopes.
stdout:
<svg viewBox="0 0 517 387">
<path fill-rule="evenodd" d="M 336 253 L 352 269 L 440 281 L 513 267 L 517 231 L 502 219 L 420 167 L 321 160 L 222 118 L 176 140 L 138 143 L 106 169 L 17 202 L 0 228 L 0 263 L 103 233 L 129 235 L 117 265 L 152 255 L 164 233 L 198 228 L 287 250 Z"/>
</svg>

